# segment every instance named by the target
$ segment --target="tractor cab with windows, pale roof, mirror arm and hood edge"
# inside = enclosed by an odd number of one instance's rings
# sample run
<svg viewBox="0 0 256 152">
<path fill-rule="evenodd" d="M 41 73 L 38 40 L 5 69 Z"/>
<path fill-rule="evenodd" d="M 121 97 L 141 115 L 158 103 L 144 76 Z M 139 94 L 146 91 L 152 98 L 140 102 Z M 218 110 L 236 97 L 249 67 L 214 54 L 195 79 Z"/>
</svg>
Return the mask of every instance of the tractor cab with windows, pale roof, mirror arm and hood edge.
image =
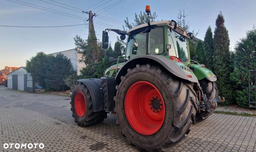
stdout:
<svg viewBox="0 0 256 152">
<path fill-rule="evenodd" d="M 180 27 L 176 21 L 157 21 L 149 22 L 130 30 L 122 31 L 117 29 L 106 29 L 103 31 L 103 48 L 108 48 L 108 32 L 114 31 L 120 34 L 121 40 L 127 39 L 127 46 L 124 56 L 118 59 L 111 58 L 110 61 L 118 61 L 106 70 L 107 76 L 115 76 L 118 69 L 124 65 L 125 62 L 131 58 L 141 55 L 161 55 L 170 60 L 182 63 L 180 65 L 190 64 L 190 55 L 187 39 L 192 39 L 193 34 L 187 33 Z M 110 71 L 114 70 L 114 71 Z M 109 73 L 108 73 L 109 72 Z"/>
</svg>

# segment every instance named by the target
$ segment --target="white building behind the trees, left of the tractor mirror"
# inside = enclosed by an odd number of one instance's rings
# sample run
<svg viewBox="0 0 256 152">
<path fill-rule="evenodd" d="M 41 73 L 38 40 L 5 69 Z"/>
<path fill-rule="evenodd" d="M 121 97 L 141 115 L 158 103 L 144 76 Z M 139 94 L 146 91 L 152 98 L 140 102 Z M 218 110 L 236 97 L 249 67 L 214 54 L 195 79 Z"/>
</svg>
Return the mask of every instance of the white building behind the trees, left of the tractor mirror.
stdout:
<svg viewBox="0 0 256 152">
<path fill-rule="evenodd" d="M 77 71 L 77 75 L 80 75 L 80 70 L 83 67 L 85 67 L 84 62 L 83 61 L 81 62 L 83 54 L 76 49 L 70 49 L 66 51 L 52 53 L 51 55 L 56 56 L 58 53 L 62 53 L 64 56 L 67 56 L 68 58 L 70 58 L 73 68 Z"/>
</svg>

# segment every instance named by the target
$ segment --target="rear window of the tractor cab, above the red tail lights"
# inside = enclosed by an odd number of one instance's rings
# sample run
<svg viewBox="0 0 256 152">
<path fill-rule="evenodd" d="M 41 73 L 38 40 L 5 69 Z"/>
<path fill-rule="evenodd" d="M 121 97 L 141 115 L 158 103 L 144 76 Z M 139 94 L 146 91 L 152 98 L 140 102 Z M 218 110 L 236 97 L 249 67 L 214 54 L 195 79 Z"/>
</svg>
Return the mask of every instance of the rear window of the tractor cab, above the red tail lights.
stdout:
<svg viewBox="0 0 256 152">
<path fill-rule="evenodd" d="M 169 54 L 172 56 L 178 57 L 183 63 L 187 62 L 188 53 L 187 53 L 186 39 L 173 30 L 172 31 L 169 30 L 169 34 L 171 36 L 172 44 L 175 48 L 175 53 L 170 52 Z"/>
</svg>

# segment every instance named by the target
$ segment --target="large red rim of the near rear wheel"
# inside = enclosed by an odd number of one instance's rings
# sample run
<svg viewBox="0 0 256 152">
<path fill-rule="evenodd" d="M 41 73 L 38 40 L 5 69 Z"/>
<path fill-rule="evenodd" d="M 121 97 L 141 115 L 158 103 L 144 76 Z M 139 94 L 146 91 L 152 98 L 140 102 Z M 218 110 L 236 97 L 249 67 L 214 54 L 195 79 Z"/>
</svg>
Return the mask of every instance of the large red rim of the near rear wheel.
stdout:
<svg viewBox="0 0 256 152">
<path fill-rule="evenodd" d="M 134 83 L 125 97 L 125 114 L 138 133 L 156 133 L 162 127 L 165 117 L 164 100 L 157 87 L 147 81 Z"/>
</svg>

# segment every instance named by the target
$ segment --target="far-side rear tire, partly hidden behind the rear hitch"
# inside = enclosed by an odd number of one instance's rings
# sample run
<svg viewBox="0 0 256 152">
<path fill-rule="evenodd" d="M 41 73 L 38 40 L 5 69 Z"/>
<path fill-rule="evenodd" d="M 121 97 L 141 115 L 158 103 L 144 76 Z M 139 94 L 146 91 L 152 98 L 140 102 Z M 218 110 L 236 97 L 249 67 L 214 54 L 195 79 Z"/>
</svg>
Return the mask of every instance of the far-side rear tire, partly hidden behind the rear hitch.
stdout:
<svg viewBox="0 0 256 152">
<path fill-rule="evenodd" d="M 214 82 L 207 79 L 202 79 L 199 81 L 203 92 L 206 94 L 208 100 L 214 99 L 218 96 L 217 86 Z M 200 111 L 196 114 L 196 122 L 201 122 L 207 119 L 214 112 L 214 108 L 207 108 L 205 111 Z"/>
</svg>

